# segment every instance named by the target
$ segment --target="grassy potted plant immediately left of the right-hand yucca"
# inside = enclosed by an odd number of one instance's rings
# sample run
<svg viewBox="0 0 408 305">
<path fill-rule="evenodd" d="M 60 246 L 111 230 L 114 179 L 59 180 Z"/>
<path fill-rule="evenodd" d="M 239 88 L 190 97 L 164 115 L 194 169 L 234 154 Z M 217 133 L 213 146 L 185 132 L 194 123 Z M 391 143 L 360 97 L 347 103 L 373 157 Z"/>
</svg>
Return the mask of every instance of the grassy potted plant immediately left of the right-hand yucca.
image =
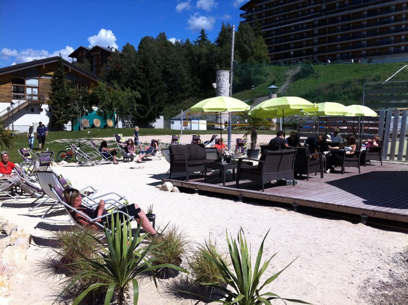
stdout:
<svg viewBox="0 0 408 305">
<path fill-rule="evenodd" d="M 205 245 L 208 245 L 208 247 Z M 220 300 L 225 295 L 220 288 L 211 287 L 210 284 L 217 283 L 223 288 L 227 287 L 221 272 L 208 258 L 208 255 L 211 254 L 221 257 L 220 259 L 224 262 L 227 261 L 227 253 L 217 249 L 216 241 L 211 241 L 210 239 L 205 240 L 204 245 L 198 245 L 198 248 L 191 251 L 191 255 L 187 259 L 190 271 L 189 278 L 192 284 L 190 291 L 203 302 Z"/>
</svg>

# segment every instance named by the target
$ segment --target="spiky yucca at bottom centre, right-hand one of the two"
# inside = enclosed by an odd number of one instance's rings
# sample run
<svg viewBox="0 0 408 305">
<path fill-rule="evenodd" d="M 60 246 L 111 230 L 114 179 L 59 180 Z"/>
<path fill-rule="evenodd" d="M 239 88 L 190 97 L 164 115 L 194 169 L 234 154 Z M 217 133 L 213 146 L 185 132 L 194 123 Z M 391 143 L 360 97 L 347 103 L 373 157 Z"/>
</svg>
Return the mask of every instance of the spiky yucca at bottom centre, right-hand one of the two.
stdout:
<svg viewBox="0 0 408 305">
<path fill-rule="evenodd" d="M 232 238 L 230 239 L 228 237 L 228 232 L 226 233 L 228 252 L 233 270 L 231 270 L 224 262 L 224 260 L 221 259 L 220 254 L 211 251 L 211 245 L 209 243 L 206 243 L 205 248 L 207 251 L 203 252 L 204 255 L 208 259 L 210 259 L 214 265 L 217 266 L 222 278 L 231 287 L 230 289 L 229 286 L 222 287 L 217 283 L 211 284 L 210 286 L 219 288 L 220 290 L 225 292 L 224 300 L 213 302 L 221 302 L 224 305 L 271 305 L 271 300 L 280 299 L 284 302 L 290 301 L 302 304 L 310 304 L 301 300 L 281 298 L 273 292 L 261 293 L 260 290 L 262 288 L 272 283 L 279 276 L 279 274 L 281 274 L 286 268 L 288 268 L 289 265 L 294 261 L 293 260 L 283 270 L 272 275 L 263 284 L 261 284 L 260 278 L 262 274 L 268 268 L 269 262 L 276 255 L 273 254 L 271 258 L 266 260 L 263 265 L 260 266 L 263 253 L 263 245 L 265 242 L 265 238 L 268 236 L 268 233 L 263 238 L 262 243 L 259 247 L 254 268 L 252 267 L 250 249 L 248 248 L 245 234 L 242 228 L 238 233 L 238 243 L 237 240 L 232 240 Z"/>
</svg>

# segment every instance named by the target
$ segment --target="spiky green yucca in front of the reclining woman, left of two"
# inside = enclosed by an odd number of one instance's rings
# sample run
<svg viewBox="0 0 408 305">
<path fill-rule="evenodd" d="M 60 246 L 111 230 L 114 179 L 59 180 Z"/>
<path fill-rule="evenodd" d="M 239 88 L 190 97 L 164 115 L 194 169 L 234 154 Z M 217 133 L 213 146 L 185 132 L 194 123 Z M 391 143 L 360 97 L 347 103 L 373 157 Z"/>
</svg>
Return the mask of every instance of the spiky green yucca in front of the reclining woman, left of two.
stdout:
<svg viewBox="0 0 408 305">
<path fill-rule="evenodd" d="M 121 225 L 118 214 L 116 220 L 112 218 L 111 231 L 107 227 L 104 228 L 106 247 L 100 239 L 94 237 L 100 244 L 101 258 L 89 259 L 77 252 L 87 262 L 89 269 L 75 274 L 68 287 L 61 294 L 65 293 L 76 282 L 91 276 L 99 279 L 99 281 L 96 280 L 96 283 L 86 288 L 74 300 L 73 305 L 80 304 L 88 293 L 100 287 L 107 287 L 105 305 L 110 304 L 115 292 L 118 295 L 118 304 L 123 304 L 125 290 L 129 287 L 130 283 L 133 285 L 133 304 L 136 305 L 139 296 L 139 286 L 135 278 L 137 275 L 163 267 L 184 271 L 182 268 L 171 264 L 153 265 L 155 258 L 148 258 L 146 254 L 154 246 L 152 243 L 149 243 L 146 247 L 139 247 L 143 239 L 148 235 L 146 233 L 139 236 L 140 229 L 141 225 L 139 224 L 135 235 L 131 236 L 132 227 L 130 222 Z M 157 288 L 157 282 L 154 277 L 153 279 Z"/>
</svg>

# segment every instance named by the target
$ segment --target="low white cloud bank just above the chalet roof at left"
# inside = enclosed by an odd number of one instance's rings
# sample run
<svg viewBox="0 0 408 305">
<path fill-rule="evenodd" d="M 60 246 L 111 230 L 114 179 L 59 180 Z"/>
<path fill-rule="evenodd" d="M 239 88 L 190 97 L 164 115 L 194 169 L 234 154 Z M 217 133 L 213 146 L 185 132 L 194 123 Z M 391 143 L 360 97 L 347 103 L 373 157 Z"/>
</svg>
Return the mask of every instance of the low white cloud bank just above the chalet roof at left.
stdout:
<svg viewBox="0 0 408 305">
<path fill-rule="evenodd" d="M 48 57 L 53 57 L 53 56 L 59 56 L 61 53 L 62 58 L 65 60 L 71 61 L 71 59 L 68 58 L 68 55 L 72 53 L 74 49 L 72 47 L 65 47 L 65 49 L 54 51 L 52 53 L 49 53 L 46 50 L 33 50 L 33 49 L 26 49 L 23 51 L 17 51 L 17 50 L 11 50 L 7 48 L 3 48 L 0 51 L 0 56 L 5 59 L 5 60 L 12 60 L 11 57 L 14 57 L 14 63 L 12 65 L 16 64 L 22 64 L 22 63 L 27 63 L 33 60 L 38 60 L 38 59 L 44 59 Z"/>
</svg>

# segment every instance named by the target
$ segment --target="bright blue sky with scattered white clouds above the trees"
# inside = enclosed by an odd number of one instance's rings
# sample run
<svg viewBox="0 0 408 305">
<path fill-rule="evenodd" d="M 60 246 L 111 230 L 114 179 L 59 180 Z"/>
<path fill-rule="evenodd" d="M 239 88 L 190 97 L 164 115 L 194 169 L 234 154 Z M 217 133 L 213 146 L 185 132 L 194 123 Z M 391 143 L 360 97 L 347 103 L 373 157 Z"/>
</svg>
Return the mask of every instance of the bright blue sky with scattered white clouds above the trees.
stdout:
<svg viewBox="0 0 408 305">
<path fill-rule="evenodd" d="M 0 68 L 34 59 L 67 59 L 80 46 L 136 48 L 165 32 L 195 40 L 202 28 L 214 42 L 221 23 L 238 27 L 247 0 L 0 0 Z"/>
</svg>

